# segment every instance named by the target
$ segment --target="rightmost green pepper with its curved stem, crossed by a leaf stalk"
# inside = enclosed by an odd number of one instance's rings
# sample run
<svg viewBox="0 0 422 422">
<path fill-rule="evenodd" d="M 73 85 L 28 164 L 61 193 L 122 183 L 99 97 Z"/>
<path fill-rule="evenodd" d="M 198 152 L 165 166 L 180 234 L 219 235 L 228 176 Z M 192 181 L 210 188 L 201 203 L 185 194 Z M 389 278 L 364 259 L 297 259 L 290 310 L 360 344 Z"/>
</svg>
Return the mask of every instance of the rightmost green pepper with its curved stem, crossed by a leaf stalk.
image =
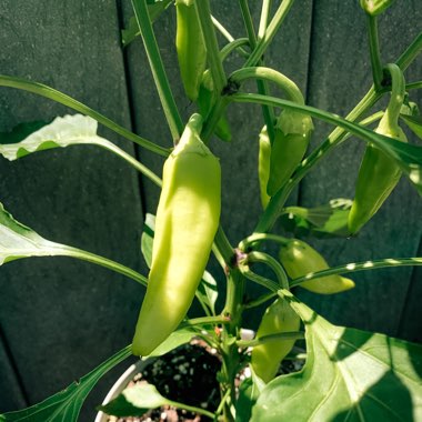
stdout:
<svg viewBox="0 0 422 422">
<path fill-rule="evenodd" d="M 406 142 L 406 137 L 398 123 L 404 100 L 404 78 L 395 64 L 392 66 L 392 69 L 393 92 L 375 132 Z M 393 159 L 374 144 L 366 145 L 359 169 L 354 200 L 349 213 L 348 225 L 352 234 L 356 233 L 381 208 L 398 184 L 401 173 L 399 164 Z"/>
</svg>

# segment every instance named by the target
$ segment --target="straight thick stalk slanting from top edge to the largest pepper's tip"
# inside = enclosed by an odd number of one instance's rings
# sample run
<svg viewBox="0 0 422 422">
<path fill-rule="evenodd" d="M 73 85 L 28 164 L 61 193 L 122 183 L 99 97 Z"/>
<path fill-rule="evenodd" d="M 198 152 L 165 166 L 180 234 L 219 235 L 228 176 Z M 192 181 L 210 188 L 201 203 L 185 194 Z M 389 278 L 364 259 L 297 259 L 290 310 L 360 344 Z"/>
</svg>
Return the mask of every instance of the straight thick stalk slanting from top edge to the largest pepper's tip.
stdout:
<svg viewBox="0 0 422 422">
<path fill-rule="evenodd" d="M 180 118 L 179 110 L 170 88 L 169 79 L 167 78 L 164 66 L 161 60 L 160 50 L 148 12 L 147 0 L 131 1 L 152 71 L 152 77 L 155 82 L 155 87 L 160 97 L 167 122 L 169 124 L 171 135 L 173 138 L 173 142 L 175 143 L 180 138 L 180 133 L 183 131 L 183 122 Z"/>
</svg>

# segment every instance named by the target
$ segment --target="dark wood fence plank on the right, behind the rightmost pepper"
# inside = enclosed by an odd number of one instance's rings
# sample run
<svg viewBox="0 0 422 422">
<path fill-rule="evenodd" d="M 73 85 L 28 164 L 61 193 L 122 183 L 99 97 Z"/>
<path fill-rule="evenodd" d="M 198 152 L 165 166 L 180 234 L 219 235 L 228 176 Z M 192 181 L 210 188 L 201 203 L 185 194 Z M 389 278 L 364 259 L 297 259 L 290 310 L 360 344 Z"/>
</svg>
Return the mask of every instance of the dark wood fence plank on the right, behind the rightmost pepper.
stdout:
<svg viewBox="0 0 422 422">
<path fill-rule="evenodd" d="M 395 60 L 421 30 L 418 1 L 398 2 L 380 17 L 380 41 L 385 62 Z M 359 2 L 319 1 L 314 9 L 309 98 L 311 105 L 345 115 L 371 84 L 365 18 Z M 406 72 L 420 79 L 421 60 Z M 418 74 L 419 73 L 419 74 Z M 415 96 L 416 94 L 416 96 Z M 412 92 L 421 103 L 421 94 Z M 385 102 L 384 102 L 385 103 Z M 379 109 L 379 108 L 378 108 Z M 378 110 L 376 109 L 376 110 Z M 374 109 L 375 110 L 375 109 Z M 318 124 L 313 145 L 329 133 Z M 301 203 L 314 207 L 331 198 L 354 194 L 354 178 L 364 144 L 351 140 L 333 151 L 302 182 Z M 402 180 L 384 207 L 354 239 L 313 242 L 331 264 L 416 254 L 421 237 L 421 202 L 408 180 Z M 345 294 L 300 297 L 334 323 L 411 338 L 399 330 L 412 270 L 361 272 L 356 288 Z M 420 298 L 419 298 L 420 300 Z"/>
</svg>

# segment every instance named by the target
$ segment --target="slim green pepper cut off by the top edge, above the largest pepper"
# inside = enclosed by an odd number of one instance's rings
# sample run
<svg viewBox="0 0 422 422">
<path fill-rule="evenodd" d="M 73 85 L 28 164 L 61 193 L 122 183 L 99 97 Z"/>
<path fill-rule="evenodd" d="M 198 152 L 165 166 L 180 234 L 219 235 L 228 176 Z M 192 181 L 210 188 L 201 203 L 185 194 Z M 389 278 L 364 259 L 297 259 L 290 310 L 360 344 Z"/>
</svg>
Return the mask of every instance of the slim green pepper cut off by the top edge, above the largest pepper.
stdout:
<svg viewBox="0 0 422 422">
<path fill-rule="evenodd" d="M 207 66 L 207 49 L 197 14 L 195 0 L 175 0 L 175 49 L 188 98 L 195 101 Z"/>
</svg>

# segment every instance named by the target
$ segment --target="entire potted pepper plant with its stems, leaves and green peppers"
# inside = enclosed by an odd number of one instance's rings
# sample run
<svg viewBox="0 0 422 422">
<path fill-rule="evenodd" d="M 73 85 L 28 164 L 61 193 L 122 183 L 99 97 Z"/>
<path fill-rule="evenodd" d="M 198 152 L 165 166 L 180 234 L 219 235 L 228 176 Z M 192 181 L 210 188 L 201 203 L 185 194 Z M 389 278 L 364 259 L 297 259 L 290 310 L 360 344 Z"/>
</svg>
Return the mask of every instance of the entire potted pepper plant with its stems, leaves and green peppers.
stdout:
<svg viewBox="0 0 422 422">
<path fill-rule="evenodd" d="M 115 364 L 132 353 L 142 359 L 163 355 L 195 336 L 221 356 L 220 405 L 213 411 L 194 409 L 211 420 L 422 420 L 422 345 L 333 325 L 295 294 L 298 289 L 341 294 L 359 282 L 355 272 L 422 264 L 422 258 L 418 257 L 385 257 L 330 268 L 307 240 L 292 234 L 292 227 L 301 225 L 310 228 L 310 233 L 346 240 L 365 230 L 400 178 L 409 178 L 415 193 L 422 192 L 422 147 L 418 141 L 408 142 L 402 130 L 406 125 L 414 138 L 422 137 L 422 120 L 412 102 L 412 94 L 422 88 L 422 81 L 405 81 L 406 68 L 422 50 L 422 34 L 394 62 L 383 62 L 376 22 L 392 3 L 360 1 L 362 16 L 368 20 L 373 84 L 345 118 L 307 105 L 293 80 L 265 66 L 265 52 L 277 32 L 282 31 L 293 0 L 262 0 L 258 28 L 248 2 L 239 0 L 247 37 L 238 39 L 213 19 L 212 9 L 218 8 L 218 2 L 132 0 L 133 18 L 123 32 L 123 43 L 137 38 L 143 41 L 172 137 L 167 148 L 51 87 L 0 76 L 2 87 L 42 96 L 76 111 L 32 132 L 27 130 L 13 142 L 6 140 L 0 144 L 3 158 L 16 160 L 41 150 L 94 144 L 113 152 L 161 189 L 158 210 L 149 213 L 144 222 L 142 253 L 151 269 L 144 274 L 88 251 L 51 242 L 14 220 L 1 205 L 1 264 L 29 257 L 72 257 L 127 275 L 140 283 L 141 289 L 147 287 L 147 294 L 140 303 L 138 325 L 133 326 L 133 345 L 67 390 L 26 410 L 4 413 L 0 421 L 77 421 L 88 393 Z M 173 6 L 181 84 L 193 108 L 187 121 L 179 113 L 152 26 L 152 18 L 168 13 Z M 224 43 L 219 32 L 225 37 Z M 241 66 L 229 73 L 224 64 L 232 54 L 240 58 Z M 255 82 L 257 89 L 251 90 L 247 83 L 250 81 Z M 274 91 L 281 92 L 280 97 L 272 94 Z M 231 244 L 220 223 L 224 185 L 213 151 L 218 142 L 235 138 L 237 128 L 229 124 L 227 112 L 239 103 L 259 104 L 262 109 L 257 149 L 251 149 L 259 150 L 255 177 L 262 213 L 254 230 L 243 233 L 238 244 Z M 331 124 L 333 130 L 310 148 L 314 122 L 319 120 Z M 161 157 L 162 180 L 161 174 L 99 137 L 97 123 Z M 341 143 L 356 138 L 366 148 L 353 200 L 333 200 L 321 207 L 319 212 L 326 217 L 323 222 L 312 219 L 310 210 L 288 205 L 303 178 L 311 177 Z M 285 215 L 294 217 L 289 224 Z M 329 220 L 335 223 L 328 223 Z M 277 245 L 279 253 L 269 253 L 267 244 Z M 205 270 L 210 253 L 225 275 L 222 284 Z M 251 283 L 260 285 L 254 297 L 247 294 Z M 194 298 L 203 315 L 189 319 L 187 312 Z M 243 316 L 251 309 L 263 312 L 257 335 L 245 340 L 241 336 Z M 299 355 L 295 344 L 304 346 Z M 279 375 L 284 359 L 302 359 L 303 368 Z M 238 385 L 238 374 L 245 368 L 251 375 Z M 124 406 L 122 398 L 118 398 L 101 406 L 102 411 L 117 416 L 141 415 L 151 406 L 169 403 L 152 385 L 138 389 L 135 394 L 122 394 Z M 409 400 L 403 400 L 404 395 Z M 178 405 L 192 410 L 189 398 Z"/>
</svg>

